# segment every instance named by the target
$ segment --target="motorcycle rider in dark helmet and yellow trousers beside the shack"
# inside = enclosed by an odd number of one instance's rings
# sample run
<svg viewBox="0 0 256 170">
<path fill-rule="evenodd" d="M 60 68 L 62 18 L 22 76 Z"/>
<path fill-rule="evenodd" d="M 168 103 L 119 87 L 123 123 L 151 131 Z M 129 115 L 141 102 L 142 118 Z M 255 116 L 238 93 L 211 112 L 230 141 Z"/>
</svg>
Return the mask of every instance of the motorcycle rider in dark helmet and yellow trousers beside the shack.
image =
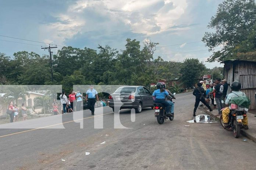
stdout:
<svg viewBox="0 0 256 170">
<path fill-rule="evenodd" d="M 230 113 L 230 100 L 233 99 L 234 97 L 240 97 L 240 96 L 246 96 L 245 93 L 241 92 L 241 83 L 238 81 L 234 81 L 231 86 L 230 86 L 232 92 L 227 95 L 227 99 L 225 101 L 225 108 L 222 111 L 222 118 L 223 118 L 223 123 L 225 127 L 228 127 L 228 115 Z M 241 128 L 244 128 L 245 130 L 249 129 L 248 127 L 248 118 L 247 116 L 243 117 L 242 119 L 243 126 Z"/>
</svg>

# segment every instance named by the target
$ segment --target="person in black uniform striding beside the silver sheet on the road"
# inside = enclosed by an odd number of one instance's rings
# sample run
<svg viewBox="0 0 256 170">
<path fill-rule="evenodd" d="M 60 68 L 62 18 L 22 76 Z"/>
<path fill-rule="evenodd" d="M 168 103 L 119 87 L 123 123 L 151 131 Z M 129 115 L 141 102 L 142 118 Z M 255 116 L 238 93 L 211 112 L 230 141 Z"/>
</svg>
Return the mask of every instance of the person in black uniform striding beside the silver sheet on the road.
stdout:
<svg viewBox="0 0 256 170">
<path fill-rule="evenodd" d="M 206 107 L 209 108 L 210 111 L 213 111 L 211 109 L 211 107 L 209 106 L 209 104 L 206 103 L 205 101 L 205 89 L 203 89 L 201 87 L 201 83 L 198 83 L 198 88 L 196 88 L 193 91 L 193 95 L 196 96 L 196 102 L 195 102 L 195 108 L 194 108 L 194 112 L 193 112 L 193 116 L 196 116 L 196 109 L 198 108 L 199 102 L 202 101 L 203 104 L 205 104 Z"/>
</svg>

